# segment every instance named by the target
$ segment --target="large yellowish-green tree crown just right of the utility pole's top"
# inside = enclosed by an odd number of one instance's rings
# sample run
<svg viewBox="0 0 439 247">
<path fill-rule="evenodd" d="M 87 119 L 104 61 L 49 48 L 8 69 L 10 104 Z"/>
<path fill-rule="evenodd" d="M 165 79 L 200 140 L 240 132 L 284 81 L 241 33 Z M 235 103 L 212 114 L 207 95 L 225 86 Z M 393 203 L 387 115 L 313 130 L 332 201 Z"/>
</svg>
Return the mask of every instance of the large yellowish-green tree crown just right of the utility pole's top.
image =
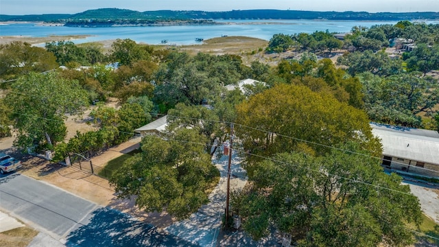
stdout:
<svg viewBox="0 0 439 247">
<path fill-rule="evenodd" d="M 237 106 L 237 122 L 250 126 L 237 134 L 254 154 L 300 150 L 303 145 L 324 154 L 328 146 L 349 140 L 381 154 L 366 113 L 306 86 L 279 84 L 250 97 Z"/>
</svg>

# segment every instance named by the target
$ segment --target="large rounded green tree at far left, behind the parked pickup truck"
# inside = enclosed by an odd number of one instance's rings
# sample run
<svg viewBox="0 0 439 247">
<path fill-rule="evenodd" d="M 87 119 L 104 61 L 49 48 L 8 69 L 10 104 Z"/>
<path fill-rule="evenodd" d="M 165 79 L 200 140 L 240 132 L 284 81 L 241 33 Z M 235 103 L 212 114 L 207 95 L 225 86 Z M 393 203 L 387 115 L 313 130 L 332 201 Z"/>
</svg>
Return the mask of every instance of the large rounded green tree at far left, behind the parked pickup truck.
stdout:
<svg viewBox="0 0 439 247">
<path fill-rule="evenodd" d="M 65 114 L 75 114 L 86 106 L 86 92 L 76 81 L 57 73 L 29 73 L 12 84 L 5 102 L 12 110 L 19 148 L 51 148 L 64 140 Z"/>
</svg>

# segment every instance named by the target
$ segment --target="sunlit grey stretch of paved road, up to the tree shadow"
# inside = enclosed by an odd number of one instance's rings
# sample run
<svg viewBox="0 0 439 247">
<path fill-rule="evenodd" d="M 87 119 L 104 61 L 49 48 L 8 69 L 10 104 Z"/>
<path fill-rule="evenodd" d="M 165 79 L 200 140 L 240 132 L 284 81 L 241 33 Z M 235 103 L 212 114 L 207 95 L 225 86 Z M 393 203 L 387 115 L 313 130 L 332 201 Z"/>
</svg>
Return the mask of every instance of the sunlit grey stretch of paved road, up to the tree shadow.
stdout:
<svg viewBox="0 0 439 247">
<path fill-rule="evenodd" d="M 0 207 L 36 228 L 62 239 L 86 224 L 97 205 L 56 187 L 17 173 L 0 180 Z"/>
</svg>

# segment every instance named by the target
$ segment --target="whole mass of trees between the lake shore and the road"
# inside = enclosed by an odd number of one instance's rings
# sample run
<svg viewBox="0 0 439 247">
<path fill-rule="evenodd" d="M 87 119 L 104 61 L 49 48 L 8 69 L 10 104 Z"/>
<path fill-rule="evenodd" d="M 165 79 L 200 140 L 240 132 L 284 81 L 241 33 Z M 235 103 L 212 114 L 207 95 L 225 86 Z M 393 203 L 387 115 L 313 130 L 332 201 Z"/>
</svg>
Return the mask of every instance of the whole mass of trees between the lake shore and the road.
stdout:
<svg viewBox="0 0 439 247">
<path fill-rule="evenodd" d="M 438 36 L 439 25 L 407 21 L 353 27 L 343 41 L 329 32 L 276 34 L 250 49 L 255 58 L 295 54 L 270 65 L 244 63 L 242 51 L 189 54 L 129 39 L 107 52 L 14 42 L 0 47 L 0 130 L 14 130 L 23 150 L 62 160 L 98 154 L 168 115 L 167 130 L 115 161 L 109 180 L 139 208 L 185 219 L 208 202 L 219 177 L 215 143 L 235 123 L 249 183 L 232 196 L 231 211 L 254 239 L 274 227 L 300 246 L 408 246 L 416 241 L 408 224 L 423 222 L 420 205 L 401 177 L 383 173 L 369 123 L 439 130 L 439 84 L 429 76 L 439 69 Z M 241 39 L 227 38 L 208 45 Z M 402 46 L 398 38 L 417 48 L 391 59 L 385 49 L 389 40 Z M 337 64 L 334 50 L 343 54 Z M 225 87 L 246 78 L 265 84 Z M 108 97 L 117 108 L 106 106 Z M 64 120 L 91 104 L 98 130 L 64 140 Z"/>
</svg>

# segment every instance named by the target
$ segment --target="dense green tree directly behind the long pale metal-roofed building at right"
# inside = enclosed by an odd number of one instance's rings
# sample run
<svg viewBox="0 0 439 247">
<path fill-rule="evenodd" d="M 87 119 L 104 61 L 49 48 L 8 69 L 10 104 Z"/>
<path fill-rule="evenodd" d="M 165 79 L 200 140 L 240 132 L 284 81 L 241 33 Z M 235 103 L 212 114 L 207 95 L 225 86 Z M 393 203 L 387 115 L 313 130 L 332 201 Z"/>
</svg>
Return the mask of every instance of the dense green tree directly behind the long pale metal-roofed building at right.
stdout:
<svg viewBox="0 0 439 247">
<path fill-rule="evenodd" d="M 419 73 L 403 73 L 380 78 L 370 73 L 359 75 L 364 93 L 364 108 L 370 119 L 385 124 L 422 127 L 418 113 L 437 112 L 439 89 L 435 80 Z"/>
</svg>

